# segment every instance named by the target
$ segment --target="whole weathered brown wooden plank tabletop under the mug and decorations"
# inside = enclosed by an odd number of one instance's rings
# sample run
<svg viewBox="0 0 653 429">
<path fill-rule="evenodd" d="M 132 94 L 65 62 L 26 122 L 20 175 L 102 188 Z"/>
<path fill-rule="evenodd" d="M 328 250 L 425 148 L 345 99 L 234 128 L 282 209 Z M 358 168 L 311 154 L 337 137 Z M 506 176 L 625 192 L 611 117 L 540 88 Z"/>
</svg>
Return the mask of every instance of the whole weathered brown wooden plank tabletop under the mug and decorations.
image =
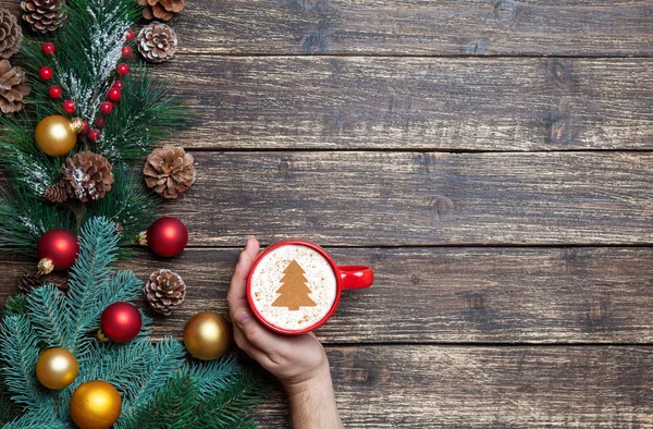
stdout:
<svg viewBox="0 0 653 429">
<path fill-rule="evenodd" d="M 16 8 L 15 5 L 13 7 Z M 348 428 L 653 427 L 653 2 L 190 0 L 180 335 L 247 236 L 370 265 L 317 334 Z M 0 295 L 27 262 L 4 258 Z M 288 427 L 275 392 L 258 418 Z"/>
</svg>

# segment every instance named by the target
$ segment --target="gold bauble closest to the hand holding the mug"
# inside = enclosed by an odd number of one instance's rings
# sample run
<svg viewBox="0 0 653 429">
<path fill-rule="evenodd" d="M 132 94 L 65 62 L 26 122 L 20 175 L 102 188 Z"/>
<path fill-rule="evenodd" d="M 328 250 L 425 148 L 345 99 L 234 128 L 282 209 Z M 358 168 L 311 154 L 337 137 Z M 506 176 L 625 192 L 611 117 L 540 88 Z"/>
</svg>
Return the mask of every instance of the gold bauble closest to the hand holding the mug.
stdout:
<svg viewBox="0 0 653 429">
<path fill-rule="evenodd" d="M 184 328 L 186 350 L 201 360 L 219 358 L 226 352 L 231 341 L 231 326 L 217 312 L 198 312 Z"/>
</svg>

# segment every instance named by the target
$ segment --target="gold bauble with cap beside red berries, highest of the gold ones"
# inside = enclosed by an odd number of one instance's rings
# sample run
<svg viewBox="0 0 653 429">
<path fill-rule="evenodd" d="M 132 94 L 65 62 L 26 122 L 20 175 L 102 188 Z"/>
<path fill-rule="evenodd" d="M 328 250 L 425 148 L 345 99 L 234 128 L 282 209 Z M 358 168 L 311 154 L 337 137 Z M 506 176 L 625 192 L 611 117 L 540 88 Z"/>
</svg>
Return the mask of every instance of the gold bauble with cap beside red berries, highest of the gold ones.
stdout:
<svg viewBox="0 0 653 429">
<path fill-rule="evenodd" d="M 46 117 L 36 125 L 34 139 L 51 157 L 66 155 L 77 143 L 77 133 L 84 128 L 79 118 L 67 119 L 59 114 Z"/>
</svg>

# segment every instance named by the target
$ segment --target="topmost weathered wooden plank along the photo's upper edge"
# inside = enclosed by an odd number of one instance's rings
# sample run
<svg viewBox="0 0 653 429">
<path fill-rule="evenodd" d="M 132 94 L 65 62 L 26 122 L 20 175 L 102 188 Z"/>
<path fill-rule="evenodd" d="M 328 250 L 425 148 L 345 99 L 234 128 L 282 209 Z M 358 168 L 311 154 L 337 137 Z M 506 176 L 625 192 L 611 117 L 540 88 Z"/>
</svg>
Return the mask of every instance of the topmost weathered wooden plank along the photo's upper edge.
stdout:
<svg viewBox="0 0 653 429">
<path fill-rule="evenodd" d="M 182 52 L 650 56 L 653 3 L 627 0 L 201 0 Z"/>
</svg>

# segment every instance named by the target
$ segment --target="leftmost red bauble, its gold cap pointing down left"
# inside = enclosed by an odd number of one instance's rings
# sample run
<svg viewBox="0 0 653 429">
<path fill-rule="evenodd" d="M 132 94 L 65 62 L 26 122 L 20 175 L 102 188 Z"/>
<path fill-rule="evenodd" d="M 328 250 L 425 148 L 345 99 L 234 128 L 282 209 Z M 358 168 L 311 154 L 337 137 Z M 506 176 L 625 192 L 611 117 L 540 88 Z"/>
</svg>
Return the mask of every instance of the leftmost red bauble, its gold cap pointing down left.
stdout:
<svg viewBox="0 0 653 429">
<path fill-rule="evenodd" d="M 75 234 L 69 230 L 50 230 L 38 241 L 38 270 L 48 273 L 54 270 L 65 270 L 75 263 L 79 243 Z"/>
</svg>

